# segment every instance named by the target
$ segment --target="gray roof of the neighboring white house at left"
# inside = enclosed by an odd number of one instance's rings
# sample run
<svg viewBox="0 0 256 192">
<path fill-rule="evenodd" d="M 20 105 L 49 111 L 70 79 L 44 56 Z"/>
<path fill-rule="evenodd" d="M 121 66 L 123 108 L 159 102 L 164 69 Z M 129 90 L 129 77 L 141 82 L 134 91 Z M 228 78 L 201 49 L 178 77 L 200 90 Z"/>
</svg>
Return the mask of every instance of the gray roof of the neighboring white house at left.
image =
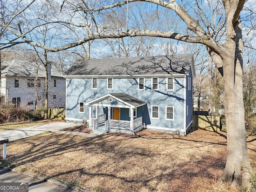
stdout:
<svg viewBox="0 0 256 192">
<path fill-rule="evenodd" d="M 2 76 L 36 76 L 36 64 L 34 62 L 12 60 L 2 62 Z M 63 75 L 56 70 L 51 70 L 52 77 L 63 77 Z M 38 77 L 45 77 L 44 66 L 40 65 L 38 69 Z"/>
</svg>

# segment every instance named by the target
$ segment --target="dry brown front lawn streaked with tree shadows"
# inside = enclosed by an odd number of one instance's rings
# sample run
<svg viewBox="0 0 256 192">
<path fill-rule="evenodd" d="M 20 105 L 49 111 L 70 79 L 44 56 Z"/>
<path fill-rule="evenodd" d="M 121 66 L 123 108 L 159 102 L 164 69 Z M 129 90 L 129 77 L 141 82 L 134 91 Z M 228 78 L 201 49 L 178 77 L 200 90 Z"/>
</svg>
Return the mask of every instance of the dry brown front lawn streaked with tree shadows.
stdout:
<svg viewBox="0 0 256 192">
<path fill-rule="evenodd" d="M 256 137 L 248 137 L 253 168 L 255 149 Z M 215 184 L 225 166 L 225 132 L 47 133 L 9 143 L 7 153 L 2 165 L 95 192 L 236 192 Z"/>
</svg>

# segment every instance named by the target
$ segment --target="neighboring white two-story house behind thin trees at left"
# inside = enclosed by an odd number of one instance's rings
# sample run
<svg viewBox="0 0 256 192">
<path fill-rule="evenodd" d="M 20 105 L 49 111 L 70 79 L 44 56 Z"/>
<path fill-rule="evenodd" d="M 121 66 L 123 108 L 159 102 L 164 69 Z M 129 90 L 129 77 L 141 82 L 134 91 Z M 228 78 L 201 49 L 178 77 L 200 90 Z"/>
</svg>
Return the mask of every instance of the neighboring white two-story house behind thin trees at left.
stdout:
<svg viewBox="0 0 256 192">
<path fill-rule="evenodd" d="M 0 97 L 2 102 L 12 102 L 22 108 L 35 108 L 36 85 L 38 106 L 45 102 L 45 70 L 35 62 L 22 60 L 1 63 Z M 37 71 L 37 72 L 36 72 Z M 36 74 L 38 81 L 36 82 Z M 48 108 L 65 106 L 66 81 L 62 74 L 48 66 Z"/>
</svg>

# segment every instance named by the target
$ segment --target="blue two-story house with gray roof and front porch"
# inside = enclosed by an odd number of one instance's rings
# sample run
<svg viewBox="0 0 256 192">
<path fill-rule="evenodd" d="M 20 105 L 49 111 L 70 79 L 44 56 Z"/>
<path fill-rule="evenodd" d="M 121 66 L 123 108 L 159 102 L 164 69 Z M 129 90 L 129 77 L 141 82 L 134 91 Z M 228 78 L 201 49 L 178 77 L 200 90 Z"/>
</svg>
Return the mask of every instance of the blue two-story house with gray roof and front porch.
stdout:
<svg viewBox="0 0 256 192">
<path fill-rule="evenodd" d="M 195 75 L 192 54 L 78 60 L 65 75 L 66 121 L 186 135 Z"/>
</svg>

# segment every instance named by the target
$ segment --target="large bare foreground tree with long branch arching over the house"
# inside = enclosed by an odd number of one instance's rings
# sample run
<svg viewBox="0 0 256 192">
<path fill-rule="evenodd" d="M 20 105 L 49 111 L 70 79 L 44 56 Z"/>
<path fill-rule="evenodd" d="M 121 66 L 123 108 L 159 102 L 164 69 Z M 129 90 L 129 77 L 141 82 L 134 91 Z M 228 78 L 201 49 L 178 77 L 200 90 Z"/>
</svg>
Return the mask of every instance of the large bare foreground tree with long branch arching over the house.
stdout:
<svg viewBox="0 0 256 192">
<path fill-rule="evenodd" d="M 172 30 L 155 30 L 152 29 L 136 29 L 129 26 L 129 28 L 117 30 L 113 32 L 104 32 L 101 25 L 97 25 L 100 20 L 100 13 L 106 14 L 106 12 L 116 11 L 117 7 L 124 6 L 128 2 L 142 1 L 145 3 L 152 3 L 158 7 L 158 9 L 169 9 L 176 13 L 177 16 L 183 21 L 182 24 L 186 25 L 186 28 L 193 32 L 195 35 L 189 32 L 181 34 L 178 31 Z M 61 44 L 56 47 L 43 44 L 42 42 L 35 42 L 33 39 L 28 38 L 26 35 L 32 30 L 20 31 L 9 26 L 2 26 L 8 28 L 10 32 L 16 35 L 18 38 L 22 38 L 23 42 L 26 42 L 32 46 L 38 46 L 48 51 L 59 51 L 79 46 L 94 39 L 103 38 L 124 38 L 135 36 L 151 36 L 160 38 L 170 38 L 184 42 L 204 44 L 209 56 L 212 58 L 218 71 L 224 79 L 224 107 L 227 123 L 227 159 L 224 172 L 220 179 L 226 180 L 233 187 L 238 187 L 241 191 L 244 191 L 249 184 L 250 174 L 252 169 L 248 157 L 248 150 L 246 144 L 246 132 L 244 125 L 244 103 L 242 93 L 242 68 L 243 68 L 243 40 L 242 40 L 242 20 L 240 19 L 240 13 L 245 4 L 245 0 L 222 0 L 220 2 L 221 8 L 224 10 L 223 19 L 219 22 L 223 22 L 223 38 L 214 39 L 212 34 L 205 28 L 204 24 L 200 21 L 200 16 L 193 13 L 190 3 L 185 4 L 181 1 L 180 4 L 174 1 L 164 0 L 123 0 L 114 4 L 107 4 L 108 1 L 98 2 L 93 1 L 93 7 L 90 7 L 90 1 L 81 1 L 80 3 L 74 3 L 68 0 L 64 0 L 60 7 L 63 11 L 63 7 L 67 4 L 74 13 L 83 12 L 88 19 L 93 21 L 93 25 L 77 24 L 75 20 L 72 24 L 88 28 L 88 34 L 84 34 L 84 38 L 76 41 L 70 41 L 68 44 Z M 199 2 L 199 1 L 198 1 Z M 209 1 L 211 2 L 211 1 Z M 218 2 L 218 1 L 217 1 Z M 193 6 L 202 6 L 203 3 L 195 4 Z M 189 11 L 188 11 L 189 9 Z M 202 13 L 206 15 L 212 7 L 202 7 Z M 215 10 L 216 12 L 218 10 Z M 212 20 L 212 18 L 211 18 Z M 210 20 L 209 20 L 210 21 Z M 72 21 L 70 21 L 71 24 Z M 161 21 L 159 21 L 161 22 Z M 15 43 L 15 42 L 13 42 Z"/>
</svg>

